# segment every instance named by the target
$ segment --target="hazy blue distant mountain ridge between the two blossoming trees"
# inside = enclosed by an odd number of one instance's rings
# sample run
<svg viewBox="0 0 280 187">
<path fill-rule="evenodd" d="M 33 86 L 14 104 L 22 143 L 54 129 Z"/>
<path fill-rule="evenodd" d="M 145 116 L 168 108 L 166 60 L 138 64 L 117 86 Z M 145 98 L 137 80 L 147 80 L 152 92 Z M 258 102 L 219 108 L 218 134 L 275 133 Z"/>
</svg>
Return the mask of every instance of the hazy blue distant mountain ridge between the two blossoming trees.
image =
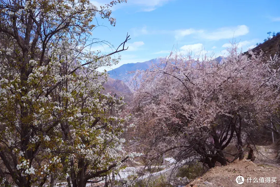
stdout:
<svg viewBox="0 0 280 187">
<path fill-rule="evenodd" d="M 134 73 L 128 74 L 129 71 L 136 71 L 136 70 L 146 70 L 152 63 L 159 63 L 160 57 L 151 59 L 146 62 L 137 62 L 137 63 L 128 63 L 123 64 L 118 68 L 115 68 L 111 71 L 108 71 L 111 78 L 116 80 L 123 80 L 125 82 L 129 81 Z"/>
</svg>

